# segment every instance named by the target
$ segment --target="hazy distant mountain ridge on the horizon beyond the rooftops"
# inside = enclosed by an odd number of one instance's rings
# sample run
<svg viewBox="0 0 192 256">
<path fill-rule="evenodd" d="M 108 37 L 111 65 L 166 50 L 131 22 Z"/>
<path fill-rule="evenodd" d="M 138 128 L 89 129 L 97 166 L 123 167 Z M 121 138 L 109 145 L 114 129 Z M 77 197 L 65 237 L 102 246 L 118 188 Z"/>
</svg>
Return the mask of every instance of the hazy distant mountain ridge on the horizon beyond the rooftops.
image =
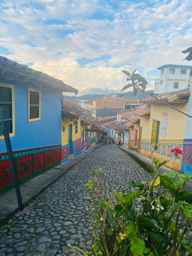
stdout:
<svg viewBox="0 0 192 256">
<path fill-rule="evenodd" d="M 153 93 L 153 90 L 147 90 L 148 93 Z M 63 96 L 64 98 L 71 98 L 71 99 L 81 99 L 81 100 L 90 100 L 93 98 L 102 98 L 104 97 L 105 94 L 85 94 L 82 96 Z M 124 98 L 146 98 L 148 97 L 148 94 L 146 94 L 145 92 L 140 92 L 138 91 L 136 96 L 133 95 L 132 91 L 128 91 L 124 93 Z"/>
</svg>

